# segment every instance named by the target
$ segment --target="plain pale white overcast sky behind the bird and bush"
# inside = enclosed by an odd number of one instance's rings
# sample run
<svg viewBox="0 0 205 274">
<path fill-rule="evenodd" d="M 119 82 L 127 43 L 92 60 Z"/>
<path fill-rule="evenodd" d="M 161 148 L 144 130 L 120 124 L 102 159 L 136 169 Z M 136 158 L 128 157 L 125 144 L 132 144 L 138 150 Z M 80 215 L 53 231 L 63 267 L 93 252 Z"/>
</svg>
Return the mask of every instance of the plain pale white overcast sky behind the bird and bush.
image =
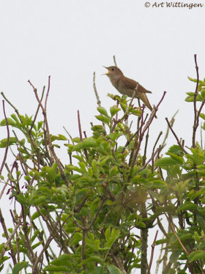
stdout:
<svg viewBox="0 0 205 274">
<path fill-rule="evenodd" d="M 191 10 L 152 8 L 152 0 L 146 8 L 145 3 L 146 0 L 1 0 L 0 90 L 20 113 L 32 115 L 37 103 L 27 80 L 41 92 L 51 75 L 51 133 L 65 134 L 65 126 L 73 137 L 78 136 L 80 110 L 82 129 L 89 135 L 90 121 L 98 123 L 94 119 L 98 113 L 93 72 L 96 71 L 102 105 L 109 109 L 113 101 L 107 93 L 118 92 L 102 76 L 102 66 L 113 65 L 115 55 L 124 75 L 152 90 L 148 95 L 151 104 L 158 103 L 163 91 L 167 91 L 157 113 L 159 118 L 150 128 L 152 140 L 161 130 L 165 132 L 165 117 L 170 119 L 179 110 L 174 129 L 190 146 L 193 108 L 184 99 L 185 92 L 195 90 L 195 84 L 187 79 L 188 75 L 196 75 L 194 53 L 200 78 L 205 77 L 205 3 L 185 0 L 184 3 L 204 4 Z M 7 104 L 6 112 L 8 116 L 13 112 Z M 5 129 L 0 131 L 1 139 L 5 138 Z M 168 144 L 174 143 L 170 134 Z"/>
</svg>

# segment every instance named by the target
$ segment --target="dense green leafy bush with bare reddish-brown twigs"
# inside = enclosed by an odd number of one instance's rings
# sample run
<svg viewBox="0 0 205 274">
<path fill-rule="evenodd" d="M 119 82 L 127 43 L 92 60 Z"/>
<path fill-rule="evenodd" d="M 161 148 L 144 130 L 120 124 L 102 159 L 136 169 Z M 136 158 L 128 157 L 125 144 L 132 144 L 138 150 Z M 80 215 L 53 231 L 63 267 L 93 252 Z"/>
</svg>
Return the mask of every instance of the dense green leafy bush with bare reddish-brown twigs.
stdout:
<svg viewBox="0 0 205 274">
<path fill-rule="evenodd" d="M 143 274 L 159 264 L 164 274 L 204 273 L 205 151 L 195 132 L 199 119 L 205 119 L 205 79 L 191 80 L 196 90 L 187 93 L 186 101 L 195 110 L 192 145 L 184 147 L 176 136 L 176 144 L 163 156 L 165 140 L 158 145 L 159 138 L 152 140 L 151 155 L 147 153 L 149 128 L 159 105 L 146 116 L 144 108 L 135 108 L 126 96 L 109 95 L 114 104 L 109 111 L 99 104 L 92 136 L 85 132 L 83 136 L 79 117 L 79 137 L 68 140 L 50 134 L 46 102 L 43 105 L 43 96 L 39 99 L 30 83 L 38 101 L 35 116 L 14 108 L 16 114 L 1 121 L 8 129 L 8 137 L 0 142 L 5 150 L 1 172 L 3 167 L 8 171 L 8 176 L 1 175 L 8 189 L 6 193 L 3 188 L 1 196 L 10 195 L 16 204 L 11 210 L 13 227 L 5 226 L 0 211 L 3 273 L 7 260 L 12 274 L 120 274 L 134 269 Z M 40 109 L 43 121 L 37 121 Z M 127 125 L 131 119 L 137 120 L 135 132 Z M 175 134 L 173 123 L 167 119 Z M 69 163 L 57 158 L 56 141 L 64 142 Z M 9 147 L 13 147 L 12 169 L 5 162 Z M 154 240 L 151 258 L 147 258 L 148 234 Z M 162 250 L 158 262 L 152 262 L 155 245 Z"/>
</svg>

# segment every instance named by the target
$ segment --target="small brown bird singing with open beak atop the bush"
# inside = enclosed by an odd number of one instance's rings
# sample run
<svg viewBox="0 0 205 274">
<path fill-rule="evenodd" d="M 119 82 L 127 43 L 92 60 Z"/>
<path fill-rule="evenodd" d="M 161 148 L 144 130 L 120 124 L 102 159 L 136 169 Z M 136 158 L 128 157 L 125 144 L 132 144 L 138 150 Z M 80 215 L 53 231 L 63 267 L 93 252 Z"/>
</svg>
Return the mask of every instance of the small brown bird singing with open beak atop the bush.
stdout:
<svg viewBox="0 0 205 274">
<path fill-rule="evenodd" d="M 143 103 L 152 111 L 153 108 L 150 105 L 150 102 L 146 95 L 146 93 L 152 93 L 150 90 L 146 90 L 146 88 L 143 88 L 143 86 L 141 86 L 135 80 L 125 77 L 122 71 L 118 68 L 118 66 L 104 67 L 108 70 L 107 73 L 104 74 L 109 77 L 111 84 L 116 88 L 116 90 L 118 90 L 123 95 L 133 97 L 133 92 L 135 88 L 137 88 L 135 98 L 141 99 L 141 101 L 143 101 Z"/>
</svg>

